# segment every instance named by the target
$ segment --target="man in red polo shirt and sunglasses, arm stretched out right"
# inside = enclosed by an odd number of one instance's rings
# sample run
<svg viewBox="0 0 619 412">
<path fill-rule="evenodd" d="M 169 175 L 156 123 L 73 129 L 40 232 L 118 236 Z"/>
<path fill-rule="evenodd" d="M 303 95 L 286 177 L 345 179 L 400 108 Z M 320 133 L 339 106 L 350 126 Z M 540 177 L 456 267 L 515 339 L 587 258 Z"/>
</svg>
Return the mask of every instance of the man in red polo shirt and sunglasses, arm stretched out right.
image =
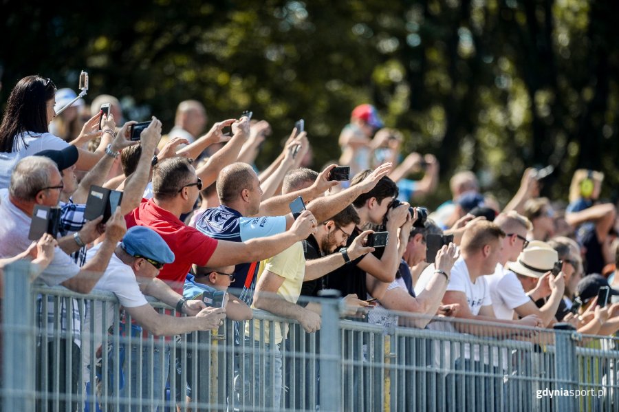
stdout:
<svg viewBox="0 0 619 412">
<path fill-rule="evenodd" d="M 237 133 L 240 128 L 249 129 L 247 118 L 232 124 L 233 133 Z M 169 283 L 180 294 L 186 274 L 194 263 L 198 266 L 219 267 L 261 261 L 316 231 L 316 219 L 306 210 L 290 230 L 279 235 L 245 242 L 211 239 L 179 219 L 183 213 L 191 212 L 201 189 L 202 181 L 189 160 L 162 160 L 153 169 L 153 198 L 148 201 L 144 199 L 138 208 L 125 216 L 127 227 L 148 226 L 158 232 L 174 252 L 174 262 L 164 266 L 159 279 Z M 179 303 L 182 305 L 182 300 Z"/>
</svg>

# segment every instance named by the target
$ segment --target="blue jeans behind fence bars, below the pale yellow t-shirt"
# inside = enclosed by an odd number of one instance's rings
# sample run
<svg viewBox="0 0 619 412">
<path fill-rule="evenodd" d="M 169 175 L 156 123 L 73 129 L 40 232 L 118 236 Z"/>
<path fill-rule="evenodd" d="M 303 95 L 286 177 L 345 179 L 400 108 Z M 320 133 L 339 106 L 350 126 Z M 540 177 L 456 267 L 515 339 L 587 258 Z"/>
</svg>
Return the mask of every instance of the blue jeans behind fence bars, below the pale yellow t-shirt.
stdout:
<svg viewBox="0 0 619 412">
<path fill-rule="evenodd" d="M 264 406 L 279 409 L 282 383 L 281 351 L 279 344 L 265 343 L 263 348 L 261 345 L 257 340 L 245 338 L 245 345 L 241 346 L 243 375 L 235 376 L 235 392 L 239 393 L 242 382 L 243 402 L 246 407 Z M 254 350 L 251 350 L 252 346 Z"/>
</svg>

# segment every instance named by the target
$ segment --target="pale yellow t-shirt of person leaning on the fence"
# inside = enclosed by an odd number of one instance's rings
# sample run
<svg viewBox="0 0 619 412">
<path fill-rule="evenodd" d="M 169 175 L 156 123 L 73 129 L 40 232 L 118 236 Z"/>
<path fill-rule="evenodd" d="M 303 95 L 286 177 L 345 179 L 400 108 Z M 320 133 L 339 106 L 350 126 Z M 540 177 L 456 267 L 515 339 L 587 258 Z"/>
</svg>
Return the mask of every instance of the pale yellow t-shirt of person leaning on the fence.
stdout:
<svg viewBox="0 0 619 412">
<path fill-rule="evenodd" d="M 283 283 L 277 290 L 277 295 L 290 303 L 296 303 L 301 294 L 303 277 L 305 277 L 305 254 L 303 254 L 303 243 L 296 242 L 280 254 L 262 261 L 258 270 L 257 281 L 263 272 L 268 270 L 284 278 Z M 252 307 L 254 307 L 252 305 Z M 261 340 L 261 323 L 264 324 L 264 342 L 269 343 L 269 321 L 259 321 L 254 319 L 254 339 Z M 287 323 L 274 322 L 275 343 L 281 343 L 288 334 Z M 283 331 L 282 331 L 283 327 Z M 249 336 L 249 323 L 246 324 L 245 334 Z"/>
</svg>

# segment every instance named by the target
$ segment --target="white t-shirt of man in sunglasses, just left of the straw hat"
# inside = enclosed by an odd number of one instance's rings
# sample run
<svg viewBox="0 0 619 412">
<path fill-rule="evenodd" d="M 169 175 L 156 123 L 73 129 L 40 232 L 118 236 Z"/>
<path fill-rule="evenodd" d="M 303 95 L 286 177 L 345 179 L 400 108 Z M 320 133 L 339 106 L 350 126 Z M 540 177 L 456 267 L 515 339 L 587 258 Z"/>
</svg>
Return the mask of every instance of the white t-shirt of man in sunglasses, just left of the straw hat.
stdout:
<svg viewBox="0 0 619 412">
<path fill-rule="evenodd" d="M 513 319 L 514 309 L 531 300 L 516 274 L 503 268 L 501 263 L 497 263 L 495 273 L 484 276 L 484 278 L 490 288 L 492 309 L 497 319 Z"/>
</svg>

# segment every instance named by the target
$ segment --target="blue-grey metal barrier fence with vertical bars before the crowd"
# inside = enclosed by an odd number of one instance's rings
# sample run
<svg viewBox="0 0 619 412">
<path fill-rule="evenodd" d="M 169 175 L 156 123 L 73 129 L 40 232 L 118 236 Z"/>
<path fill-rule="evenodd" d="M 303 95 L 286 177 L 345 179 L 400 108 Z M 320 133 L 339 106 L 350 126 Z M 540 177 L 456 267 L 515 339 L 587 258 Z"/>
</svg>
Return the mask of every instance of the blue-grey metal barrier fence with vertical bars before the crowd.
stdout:
<svg viewBox="0 0 619 412">
<path fill-rule="evenodd" d="M 163 338 L 131 325 L 113 294 L 33 286 L 27 270 L 5 270 L 4 411 L 619 408 L 614 338 L 444 319 L 375 325 L 340 318 L 338 299 L 321 300 L 314 334 L 256 310 L 251 321 Z"/>
</svg>

